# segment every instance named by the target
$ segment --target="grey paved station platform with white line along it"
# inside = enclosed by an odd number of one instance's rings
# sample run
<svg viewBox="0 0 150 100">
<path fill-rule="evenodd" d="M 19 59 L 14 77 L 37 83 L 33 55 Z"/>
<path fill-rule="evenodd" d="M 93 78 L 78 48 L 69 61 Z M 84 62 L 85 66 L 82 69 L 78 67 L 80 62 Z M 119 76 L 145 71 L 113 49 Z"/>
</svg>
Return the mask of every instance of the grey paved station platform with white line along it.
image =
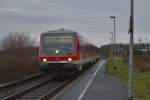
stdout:
<svg viewBox="0 0 150 100">
<path fill-rule="evenodd" d="M 52 100 L 127 100 L 127 88 L 119 78 L 104 73 L 105 63 L 99 61 Z"/>
</svg>

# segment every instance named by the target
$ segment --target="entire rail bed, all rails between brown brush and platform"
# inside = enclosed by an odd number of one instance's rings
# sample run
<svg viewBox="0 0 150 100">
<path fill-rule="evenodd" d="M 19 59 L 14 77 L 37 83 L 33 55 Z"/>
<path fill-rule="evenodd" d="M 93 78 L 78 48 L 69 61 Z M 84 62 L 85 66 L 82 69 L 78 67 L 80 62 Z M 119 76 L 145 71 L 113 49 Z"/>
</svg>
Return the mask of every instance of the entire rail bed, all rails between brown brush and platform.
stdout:
<svg viewBox="0 0 150 100">
<path fill-rule="evenodd" d="M 65 78 L 45 75 L 30 82 L 0 90 L 0 100 L 46 100 L 78 76 Z"/>
</svg>

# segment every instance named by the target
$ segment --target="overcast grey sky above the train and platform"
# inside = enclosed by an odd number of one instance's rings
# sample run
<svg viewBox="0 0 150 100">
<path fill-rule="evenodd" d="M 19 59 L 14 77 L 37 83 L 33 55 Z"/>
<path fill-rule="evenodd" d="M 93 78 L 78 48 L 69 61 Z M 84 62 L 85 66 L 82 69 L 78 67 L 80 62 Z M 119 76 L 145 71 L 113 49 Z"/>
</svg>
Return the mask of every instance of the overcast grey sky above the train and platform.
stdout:
<svg viewBox="0 0 150 100">
<path fill-rule="evenodd" d="M 130 0 L 0 0 L 0 39 L 9 32 L 41 32 L 66 28 L 96 45 L 110 43 L 116 16 L 117 43 L 129 41 Z M 150 0 L 135 0 L 135 42 L 150 42 Z"/>
</svg>

